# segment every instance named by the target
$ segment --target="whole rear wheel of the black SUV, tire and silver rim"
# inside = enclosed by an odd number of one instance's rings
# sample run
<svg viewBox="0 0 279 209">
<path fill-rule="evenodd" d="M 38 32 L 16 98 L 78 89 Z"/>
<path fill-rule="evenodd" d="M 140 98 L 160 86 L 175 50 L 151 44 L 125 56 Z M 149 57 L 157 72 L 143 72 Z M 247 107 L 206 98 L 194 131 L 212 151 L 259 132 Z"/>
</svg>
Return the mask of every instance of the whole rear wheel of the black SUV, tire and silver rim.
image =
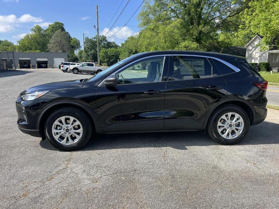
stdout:
<svg viewBox="0 0 279 209">
<path fill-rule="evenodd" d="M 226 105 L 215 111 L 208 121 L 208 134 L 216 142 L 233 145 L 240 142 L 249 130 L 249 117 L 243 108 Z"/>
</svg>

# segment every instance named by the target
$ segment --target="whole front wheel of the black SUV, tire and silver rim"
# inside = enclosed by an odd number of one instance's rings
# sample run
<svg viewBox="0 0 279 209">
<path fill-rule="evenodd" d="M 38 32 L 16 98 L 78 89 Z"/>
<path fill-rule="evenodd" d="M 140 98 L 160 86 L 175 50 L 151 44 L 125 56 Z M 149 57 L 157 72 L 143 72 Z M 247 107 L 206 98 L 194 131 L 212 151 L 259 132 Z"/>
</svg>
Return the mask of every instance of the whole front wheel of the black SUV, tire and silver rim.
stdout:
<svg viewBox="0 0 279 209">
<path fill-rule="evenodd" d="M 50 144 L 64 151 L 82 148 L 92 133 L 88 117 L 76 108 L 61 108 L 46 120 L 45 135 Z"/>
</svg>

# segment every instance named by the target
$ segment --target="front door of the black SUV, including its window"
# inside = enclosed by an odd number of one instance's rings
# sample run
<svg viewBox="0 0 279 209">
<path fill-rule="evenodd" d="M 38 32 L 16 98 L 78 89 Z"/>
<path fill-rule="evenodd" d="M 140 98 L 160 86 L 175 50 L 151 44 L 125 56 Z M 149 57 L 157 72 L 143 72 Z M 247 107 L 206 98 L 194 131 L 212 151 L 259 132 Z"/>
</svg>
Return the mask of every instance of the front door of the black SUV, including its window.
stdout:
<svg viewBox="0 0 279 209">
<path fill-rule="evenodd" d="M 104 132 L 164 129 L 168 56 L 141 59 L 114 75 L 117 86 L 96 88 L 97 112 Z"/>
</svg>

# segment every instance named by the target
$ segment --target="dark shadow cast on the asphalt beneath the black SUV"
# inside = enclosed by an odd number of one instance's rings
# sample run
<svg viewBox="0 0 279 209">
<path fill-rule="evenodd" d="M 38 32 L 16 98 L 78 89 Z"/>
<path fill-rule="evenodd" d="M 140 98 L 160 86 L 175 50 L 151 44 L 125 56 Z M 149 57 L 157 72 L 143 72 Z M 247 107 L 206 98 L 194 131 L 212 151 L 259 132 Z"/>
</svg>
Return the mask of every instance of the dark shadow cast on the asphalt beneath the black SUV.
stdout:
<svg viewBox="0 0 279 209">
<path fill-rule="evenodd" d="M 251 126 L 246 138 L 234 145 L 261 145 L 279 144 L 279 124 L 262 122 Z M 50 145 L 47 140 L 40 141 L 42 148 L 58 150 Z M 190 146 L 219 145 L 214 142 L 204 131 L 189 132 L 157 132 L 157 133 L 118 133 L 94 135 L 84 148 L 78 151 L 172 147 L 187 150 Z M 225 145 L 224 145 L 225 146 Z"/>
</svg>

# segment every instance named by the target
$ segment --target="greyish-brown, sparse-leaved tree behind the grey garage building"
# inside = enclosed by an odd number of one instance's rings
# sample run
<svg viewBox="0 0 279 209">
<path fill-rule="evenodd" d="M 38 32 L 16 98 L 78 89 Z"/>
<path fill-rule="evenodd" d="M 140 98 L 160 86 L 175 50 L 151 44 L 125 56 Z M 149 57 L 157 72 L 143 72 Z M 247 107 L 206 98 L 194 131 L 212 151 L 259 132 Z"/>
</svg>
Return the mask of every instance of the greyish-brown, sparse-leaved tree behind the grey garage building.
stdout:
<svg viewBox="0 0 279 209">
<path fill-rule="evenodd" d="M 65 31 L 57 30 L 48 44 L 49 52 L 70 52 L 72 50 L 71 42 Z"/>
</svg>

